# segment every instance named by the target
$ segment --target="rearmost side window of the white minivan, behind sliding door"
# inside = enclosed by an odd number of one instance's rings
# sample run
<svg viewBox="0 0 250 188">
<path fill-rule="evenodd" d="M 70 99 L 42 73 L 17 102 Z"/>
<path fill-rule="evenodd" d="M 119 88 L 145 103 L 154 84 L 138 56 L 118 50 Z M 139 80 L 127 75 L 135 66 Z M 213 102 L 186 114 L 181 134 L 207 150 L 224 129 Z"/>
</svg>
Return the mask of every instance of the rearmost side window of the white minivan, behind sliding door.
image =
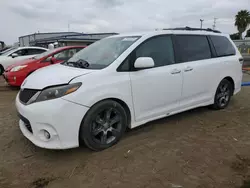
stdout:
<svg viewBox="0 0 250 188">
<path fill-rule="evenodd" d="M 227 37 L 210 36 L 218 57 L 235 55 L 235 49 Z"/>
</svg>

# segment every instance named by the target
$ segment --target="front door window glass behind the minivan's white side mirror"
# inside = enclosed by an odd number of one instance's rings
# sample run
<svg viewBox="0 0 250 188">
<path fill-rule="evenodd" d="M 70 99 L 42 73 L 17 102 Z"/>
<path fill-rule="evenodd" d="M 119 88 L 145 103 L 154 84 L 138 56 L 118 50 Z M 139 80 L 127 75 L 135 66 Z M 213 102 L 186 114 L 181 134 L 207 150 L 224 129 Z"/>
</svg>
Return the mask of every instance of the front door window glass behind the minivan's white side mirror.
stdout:
<svg viewBox="0 0 250 188">
<path fill-rule="evenodd" d="M 151 57 L 155 67 L 174 64 L 174 50 L 171 36 L 157 36 L 141 44 L 135 51 L 135 56 Z"/>
</svg>

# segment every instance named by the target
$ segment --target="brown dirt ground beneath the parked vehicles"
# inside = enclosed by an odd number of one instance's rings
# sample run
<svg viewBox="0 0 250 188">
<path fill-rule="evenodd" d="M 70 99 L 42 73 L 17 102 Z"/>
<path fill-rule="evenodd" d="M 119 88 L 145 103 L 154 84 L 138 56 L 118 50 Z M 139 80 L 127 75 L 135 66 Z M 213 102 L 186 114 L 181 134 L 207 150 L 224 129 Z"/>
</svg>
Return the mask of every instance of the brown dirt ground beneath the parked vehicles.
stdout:
<svg viewBox="0 0 250 188">
<path fill-rule="evenodd" d="M 244 79 L 250 81 L 250 76 Z M 17 92 L 0 78 L 0 188 L 247 188 L 250 184 L 250 87 L 242 88 L 225 110 L 204 107 L 148 123 L 127 131 L 116 146 L 102 152 L 34 146 L 18 127 Z"/>
</svg>

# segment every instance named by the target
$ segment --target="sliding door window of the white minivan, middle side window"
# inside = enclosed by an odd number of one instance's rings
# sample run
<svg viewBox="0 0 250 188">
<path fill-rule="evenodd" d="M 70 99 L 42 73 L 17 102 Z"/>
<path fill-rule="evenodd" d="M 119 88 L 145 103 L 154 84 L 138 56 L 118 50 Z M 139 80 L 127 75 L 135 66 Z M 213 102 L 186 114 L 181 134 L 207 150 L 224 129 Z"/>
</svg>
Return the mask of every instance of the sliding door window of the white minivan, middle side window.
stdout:
<svg viewBox="0 0 250 188">
<path fill-rule="evenodd" d="M 206 36 L 176 35 L 175 39 L 180 62 L 210 59 L 212 57 Z"/>
</svg>

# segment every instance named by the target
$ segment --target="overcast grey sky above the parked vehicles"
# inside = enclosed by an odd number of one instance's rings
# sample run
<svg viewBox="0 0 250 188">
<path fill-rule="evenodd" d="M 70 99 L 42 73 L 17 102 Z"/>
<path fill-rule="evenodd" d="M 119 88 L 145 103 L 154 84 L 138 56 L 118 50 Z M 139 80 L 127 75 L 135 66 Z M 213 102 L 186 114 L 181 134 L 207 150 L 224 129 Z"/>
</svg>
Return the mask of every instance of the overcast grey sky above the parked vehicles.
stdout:
<svg viewBox="0 0 250 188">
<path fill-rule="evenodd" d="M 0 0 L 0 40 L 35 32 L 137 32 L 169 27 L 234 33 L 234 17 L 250 0 Z M 70 27 L 68 27 L 70 26 Z"/>
</svg>

